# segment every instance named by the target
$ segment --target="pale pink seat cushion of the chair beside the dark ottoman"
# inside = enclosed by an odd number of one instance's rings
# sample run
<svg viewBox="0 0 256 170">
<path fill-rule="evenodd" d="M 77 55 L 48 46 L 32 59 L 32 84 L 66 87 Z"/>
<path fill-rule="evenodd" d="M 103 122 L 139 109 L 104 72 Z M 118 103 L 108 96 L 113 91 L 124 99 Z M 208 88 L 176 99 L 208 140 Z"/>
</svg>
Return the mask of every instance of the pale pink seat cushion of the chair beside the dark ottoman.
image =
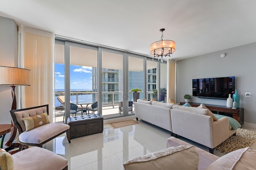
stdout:
<svg viewBox="0 0 256 170">
<path fill-rule="evenodd" d="M 69 125 L 64 123 L 48 123 L 30 131 L 22 132 L 19 136 L 19 140 L 23 143 L 39 144 L 68 129 Z M 33 138 L 31 136 L 33 136 Z"/>
</svg>

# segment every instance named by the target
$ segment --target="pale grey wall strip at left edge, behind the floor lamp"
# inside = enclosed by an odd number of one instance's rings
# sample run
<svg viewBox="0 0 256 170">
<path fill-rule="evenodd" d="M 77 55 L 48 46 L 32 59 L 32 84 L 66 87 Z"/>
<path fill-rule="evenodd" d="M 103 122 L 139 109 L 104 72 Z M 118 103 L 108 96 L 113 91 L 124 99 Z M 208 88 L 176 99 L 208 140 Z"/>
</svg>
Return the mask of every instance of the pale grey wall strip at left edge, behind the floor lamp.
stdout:
<svg viewBox="0 0 256 170">
<path fill-rule="evenodd" d="M 14 20 L 0 17 L 0 66 L 18 66 L 18 27 Z M 0 86 L 0 124 L 10 124 L 12 92 L 10 86 Z M 4 139 L 10 137 L 8 133 Z"/>
</svg>

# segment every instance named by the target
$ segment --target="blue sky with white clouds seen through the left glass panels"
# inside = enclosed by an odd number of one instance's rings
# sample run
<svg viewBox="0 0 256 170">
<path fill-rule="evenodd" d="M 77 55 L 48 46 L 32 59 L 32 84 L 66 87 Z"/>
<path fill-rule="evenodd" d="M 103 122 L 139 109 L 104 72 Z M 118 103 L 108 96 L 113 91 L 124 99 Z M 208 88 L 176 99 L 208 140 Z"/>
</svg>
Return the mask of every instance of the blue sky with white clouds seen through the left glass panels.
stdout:
<svg viewBox="0 0 256 170">
<path fill-rule="evenodd" d="M 64 89 L 64 64 L 55 64 L 55 89 Z M 92 90 L 92 67 L 70 65 L 70 89 Z"/>
</svg>

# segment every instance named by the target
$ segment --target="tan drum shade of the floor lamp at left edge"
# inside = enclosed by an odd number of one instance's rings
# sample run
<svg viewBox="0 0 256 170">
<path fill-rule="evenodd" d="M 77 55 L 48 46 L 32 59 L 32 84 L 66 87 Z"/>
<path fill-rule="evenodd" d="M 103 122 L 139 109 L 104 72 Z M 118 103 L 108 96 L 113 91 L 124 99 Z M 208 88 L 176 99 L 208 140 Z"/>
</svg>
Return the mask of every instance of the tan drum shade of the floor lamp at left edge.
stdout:
<svg viewBox="0 0 256 170">
<path fill-rule="evenodd" d="M 30 70 L 0 66 L 0 85 L 30 86 Z"/>
</svg>

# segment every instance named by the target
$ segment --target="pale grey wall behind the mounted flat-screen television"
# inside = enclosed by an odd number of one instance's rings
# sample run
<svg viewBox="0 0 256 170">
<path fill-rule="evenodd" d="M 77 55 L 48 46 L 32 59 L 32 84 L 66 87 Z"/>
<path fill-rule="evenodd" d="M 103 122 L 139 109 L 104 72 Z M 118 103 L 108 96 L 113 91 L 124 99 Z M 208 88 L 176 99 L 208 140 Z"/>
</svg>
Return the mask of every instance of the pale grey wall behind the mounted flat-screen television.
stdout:
<svg viewBox="0 0 256 170">
<path fill-rule="evenodd" d="M 226 57 L 221 58 L 222 53 L 226 53 Z M 184 102 L 184 94 L 192 96 L 193 78 L 235 76 L 240 107 L 244 108 L 244 121 L 256 124 L 255 72 L 256 43 L 177 61 L 177 102 Z M 251 97 L 246 98 L 245 92 L 250 92 Z M 192 97 L 192 102 L 226 106 L 226 100 Z"/>
</svg>

